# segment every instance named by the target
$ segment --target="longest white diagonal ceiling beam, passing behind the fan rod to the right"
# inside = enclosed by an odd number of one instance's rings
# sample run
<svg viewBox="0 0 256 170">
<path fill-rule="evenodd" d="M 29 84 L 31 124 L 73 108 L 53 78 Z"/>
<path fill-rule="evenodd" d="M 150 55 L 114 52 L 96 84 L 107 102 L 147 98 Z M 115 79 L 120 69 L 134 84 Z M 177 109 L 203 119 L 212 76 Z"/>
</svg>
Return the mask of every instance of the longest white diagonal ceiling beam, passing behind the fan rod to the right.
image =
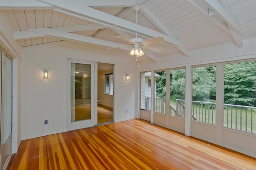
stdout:
<svg viewBox="0 0 256 170">
<path fill-rule="evenodd" d="M 69 1 L 61 1 L 61 3 L 60 3 L 60 1 L 56 2 L 56 1 L 52 1 L 52 0 L 40 0 L 40 1 L 48 3 L 53 6 L 56 6 L 58 8 L 65 9 L 65 10 L 57 10 L 58 12 L 63 12 L 68 15 L 76 16 L 78 18 L 83 18 L 83 19 L 89 20 L 89 21 L 93 21 L 95 23 L 100 23 L 100 24 L 116 27 L 117 29 L 121 29 L 121 30 L 128 31 L 131 33 L 138 32 L 142 36 L 143 35 L 149 36 L 149 37 L 160 36 L 160 37 L 163 37 L 164 41 L 170 45 L 176 45 L 176 46 L 186 48 L 181 41 L 175 39 L 174 37 L 164 35 L 162 33 L 153 31 L 152 29 L 148 29 L 146 27 L 137 25 L 130 21 L 123 20 L 116 16 L 111 16 L 109 14 L 95 10 L 88 6 L 81 6 L 81 4 L 77 4 L 75 2 L 70 3 Z M 186 51 L 186 52 L 182 51 L 182 53 L 185 56 L 189 56 L 189 51 Z"/>
</svg>

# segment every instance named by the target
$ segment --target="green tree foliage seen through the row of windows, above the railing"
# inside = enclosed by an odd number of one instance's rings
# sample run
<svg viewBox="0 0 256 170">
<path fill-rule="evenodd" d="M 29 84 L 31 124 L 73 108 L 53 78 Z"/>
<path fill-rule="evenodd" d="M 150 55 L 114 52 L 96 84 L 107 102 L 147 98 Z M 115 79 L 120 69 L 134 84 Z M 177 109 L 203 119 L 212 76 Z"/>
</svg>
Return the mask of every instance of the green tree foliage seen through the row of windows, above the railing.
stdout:
<svg viewBox="0 0 256 170">
<path fill-rule="evenodd" d="M 158 71 L 157 97 L 166 98 L 166 71 Z M 192 100 L 215 102 L 216 66 L 193 68 Z M 185 99 L 185 69 L 170 71 L 170 100 Z M 224 65 L 224 103 L 256 106 L 256 62 Z"/>
</svg>

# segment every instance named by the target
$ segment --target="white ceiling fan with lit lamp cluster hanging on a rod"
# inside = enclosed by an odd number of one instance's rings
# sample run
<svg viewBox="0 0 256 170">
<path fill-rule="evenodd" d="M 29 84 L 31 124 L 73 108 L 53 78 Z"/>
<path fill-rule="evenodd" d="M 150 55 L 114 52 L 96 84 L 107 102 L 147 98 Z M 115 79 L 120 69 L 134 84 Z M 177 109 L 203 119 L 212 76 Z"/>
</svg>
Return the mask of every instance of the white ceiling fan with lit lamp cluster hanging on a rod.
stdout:
<svg viewBox="0 0 256 170">
<path fill-rule="evenodd" d="M 134 7 L 132 7 L 132 9 L 136 12 L 136 24 L 138 24 L 138 11 L 140 10 L 140 6 L 135 5 Z M 152 51 L 152 52 L 160 52 L 163 49 L 161 47 L 155 47 L 151 45 L 151 44 L 158 43 L 160 41 L 164 41 L 163 37 L 153 37 L 150 39 L 143 40 L 142 38 L 138 38 L 137 32 L 136 32 L 136 38 L 132 38 L 130 40 L 122 36 L 115 36 L 115 37 L 118 37 L 130 43 L 130 45 L 126 45 L 122 47 L 133 46 L 132 50 L 130 51 L 130 55 L 136 55 L 137 57 L 144 55 L 144 51 L 142 51 L 142 49 L 148 49 L 149 51 Z"/>
</svg>

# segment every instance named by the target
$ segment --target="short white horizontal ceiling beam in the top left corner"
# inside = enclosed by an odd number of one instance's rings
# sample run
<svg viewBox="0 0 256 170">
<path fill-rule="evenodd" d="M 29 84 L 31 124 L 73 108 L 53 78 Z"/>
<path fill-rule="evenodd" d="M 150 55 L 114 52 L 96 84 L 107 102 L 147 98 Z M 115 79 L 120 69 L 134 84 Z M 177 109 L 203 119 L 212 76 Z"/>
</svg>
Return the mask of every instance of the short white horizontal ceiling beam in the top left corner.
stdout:
<svg viewBox="0 0 256 170">
<path fill-rule="evenodd" d="M 49 4 L 38 2 L 36 0 L 0 0 L 1 10 L 38 10 L 38 9 L 54 9 Z"/>
</svg>

